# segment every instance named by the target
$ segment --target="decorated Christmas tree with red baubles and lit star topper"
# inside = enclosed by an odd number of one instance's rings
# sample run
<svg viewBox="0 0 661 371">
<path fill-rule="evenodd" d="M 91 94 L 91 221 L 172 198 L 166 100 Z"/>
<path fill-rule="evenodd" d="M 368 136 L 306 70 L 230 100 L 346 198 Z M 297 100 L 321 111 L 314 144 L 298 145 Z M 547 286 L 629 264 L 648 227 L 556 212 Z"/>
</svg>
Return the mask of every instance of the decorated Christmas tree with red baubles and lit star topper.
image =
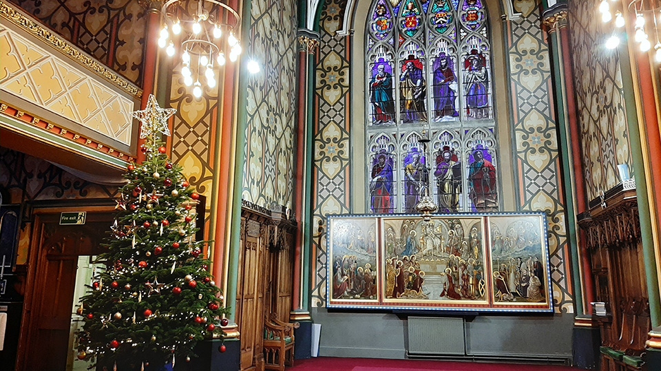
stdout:
<svg viewBox="0 0 661 371">
<path fill-rule="evenodd" d="M 218 324 L 227 325 L 204 242 L 193 240 L 199 195 L 159 138 L 169 135 L 167 118 L 174 112 L 158 107 L 154 96 L 134 112 L 146 160 L 125 173 L 107 251 L 97 259 L 105 269 L 95 272 L 77 310 L 84 321 L 78 359 L 174 365 L 193 357 L 197 341 L 222 335 Z"/>
</svg>

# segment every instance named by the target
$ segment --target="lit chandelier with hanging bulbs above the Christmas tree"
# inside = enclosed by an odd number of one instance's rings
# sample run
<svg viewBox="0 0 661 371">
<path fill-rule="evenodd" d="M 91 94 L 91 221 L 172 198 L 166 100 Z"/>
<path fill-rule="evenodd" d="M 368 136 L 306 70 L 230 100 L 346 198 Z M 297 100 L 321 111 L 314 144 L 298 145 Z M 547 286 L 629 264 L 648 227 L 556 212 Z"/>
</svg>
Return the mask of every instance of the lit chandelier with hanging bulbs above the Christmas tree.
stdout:
<svg viewBox="0 0 661 371">
<path fill-rule="evenodd" d="M 193 96 L 202 96 L 202 84 L 216 87 L 215 67 L 241 54 L 241 45 L 234 31 L 241 17 L 227 4 L 217 0 L 167 0 L 160 11 L 162 28 L 158 46 L 168 56 L 181 57 L 184 85 L 193 87 Z"/>
</svg>

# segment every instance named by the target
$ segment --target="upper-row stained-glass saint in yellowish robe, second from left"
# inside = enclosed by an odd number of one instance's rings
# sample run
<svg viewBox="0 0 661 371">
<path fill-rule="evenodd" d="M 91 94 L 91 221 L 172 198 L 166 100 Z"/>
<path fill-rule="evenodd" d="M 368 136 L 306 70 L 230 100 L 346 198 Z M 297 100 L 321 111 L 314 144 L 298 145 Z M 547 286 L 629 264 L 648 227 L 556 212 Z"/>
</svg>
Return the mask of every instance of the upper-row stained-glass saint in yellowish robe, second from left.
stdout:
<svg viewBox="0 0 661 371">
<path fill-rule="evenodd" d="M 415 56 L 408 56 L 401 67 L 399 78 L 401 91 L 401 113 L 404 123 L 427 120 L 425 105 L 426 82 L 422 62 Z"/>
</svg>

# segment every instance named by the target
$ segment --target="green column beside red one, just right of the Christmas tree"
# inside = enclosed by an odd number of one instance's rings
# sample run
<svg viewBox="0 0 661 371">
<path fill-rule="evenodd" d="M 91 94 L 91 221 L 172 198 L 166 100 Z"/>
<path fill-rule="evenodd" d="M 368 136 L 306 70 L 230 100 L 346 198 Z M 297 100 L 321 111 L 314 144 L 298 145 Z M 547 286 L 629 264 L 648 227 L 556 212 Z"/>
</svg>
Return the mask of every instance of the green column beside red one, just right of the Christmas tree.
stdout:
<svg viewBox="0 0 661 371">
<path fill-rule="evenodd" d="M 250 41 L 250 20 L 251 20 L 252 3 L 250 0 L 243 2 L 241 27 L 241 40 Z M 246 48 L 248 49 L 248 48 Z M 245 54 L 240 59 L 241 64 L 237 65 L 239 70 L 239 81 L 237 91 L 239 92 L 237 98 L 236 109 L 236 151 L 235 170 L 233 179 L 233 200 L 232 200 L 232 222 L 230 229 L 230 245 L 229 245 L 229 265 L 227 272 L 227 293 L 225 293 L 225 303 L 229 307 L 228 319 L 235 321 L 236 315 L 236 292 L 238 286 L 239 275 L 239 255 L 241 253 L 241 193 L 243 189 L 243 171 L 246 162 L 246 155 L 244 147 L 246 145 L 246 126 L 248 124 L 248 71 L 245 67 Z"/>
</svg>

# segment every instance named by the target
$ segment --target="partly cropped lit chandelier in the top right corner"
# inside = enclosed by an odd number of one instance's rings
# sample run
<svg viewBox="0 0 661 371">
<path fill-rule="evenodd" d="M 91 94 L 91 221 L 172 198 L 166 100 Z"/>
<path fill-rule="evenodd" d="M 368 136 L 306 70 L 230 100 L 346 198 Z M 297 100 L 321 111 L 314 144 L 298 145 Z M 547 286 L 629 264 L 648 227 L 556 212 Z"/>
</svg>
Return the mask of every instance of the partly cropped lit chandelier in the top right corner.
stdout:
<svg viewBox="0 0 661 371">
<path fill-rule="evenodd" d="M 623 29 L 626 21 L 622 11 L 618 9 L 619 0 L 611 0 L 613 3 L 613 10 L 608 0 L 603 0 L 599 4 L 599 12 L 601 13 L 601 20 L 604 23 L 614 23 L 616 29 Z M 661 63 L 661 41 L 659 39 L 658 22 L 661 19 L 661 0 L 628 0 L 629 12 L 636 14 L 636 21 L 633 23 L 633 40 L 638 43 L 641 52 L 648 52 L 651 50 L 652 43 L 654 43 L 654 59 L 657 63 Z M 614 19 L 613 19 L 614 18 Z M 648 33 L 649 32 L 649 33 Z M 651 36 L 650 36 L 651 33 Z M 609 49 L 615 49 L 620 44 L 620 38 L 617 34 L 611 35 L 605 43 Z"/>
</svg>

